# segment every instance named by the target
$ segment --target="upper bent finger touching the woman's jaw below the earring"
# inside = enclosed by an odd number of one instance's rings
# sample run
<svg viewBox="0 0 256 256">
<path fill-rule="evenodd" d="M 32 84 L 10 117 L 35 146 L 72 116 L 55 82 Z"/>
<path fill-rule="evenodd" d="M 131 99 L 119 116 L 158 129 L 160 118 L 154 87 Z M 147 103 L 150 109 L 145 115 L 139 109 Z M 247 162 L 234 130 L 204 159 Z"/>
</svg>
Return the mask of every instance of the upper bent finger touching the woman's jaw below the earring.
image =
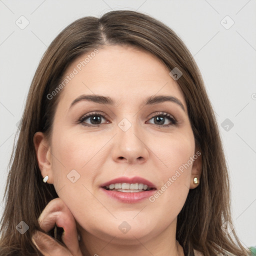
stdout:
<svg viewBox="0 0 256 256">
<path fill-rule="evenodd" d="M 38 222 L 44 231 L 49 231 L 55 224 L 62 227 L 64 229 L 61 237 L 62 241 L 73 255 L 81 254 L 74 217 L 60 198 L 55 198 L 46 205 L 39 216 Z"/>
</svg>

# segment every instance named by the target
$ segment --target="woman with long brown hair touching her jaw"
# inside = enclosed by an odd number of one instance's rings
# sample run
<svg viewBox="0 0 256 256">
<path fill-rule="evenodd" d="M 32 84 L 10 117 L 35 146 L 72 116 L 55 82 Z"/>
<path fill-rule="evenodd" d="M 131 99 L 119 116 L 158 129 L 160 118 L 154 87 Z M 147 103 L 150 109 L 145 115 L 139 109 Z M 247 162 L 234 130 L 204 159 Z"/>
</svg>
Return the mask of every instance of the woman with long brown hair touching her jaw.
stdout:
<svg viewBox="0 0 256 256">
<path fill-rule="evenodd" d="M 36 70 L 1 255 L 248 255 L 216 120 L 186 46 L 135 11 L 68 25 Z"/>
</svg>

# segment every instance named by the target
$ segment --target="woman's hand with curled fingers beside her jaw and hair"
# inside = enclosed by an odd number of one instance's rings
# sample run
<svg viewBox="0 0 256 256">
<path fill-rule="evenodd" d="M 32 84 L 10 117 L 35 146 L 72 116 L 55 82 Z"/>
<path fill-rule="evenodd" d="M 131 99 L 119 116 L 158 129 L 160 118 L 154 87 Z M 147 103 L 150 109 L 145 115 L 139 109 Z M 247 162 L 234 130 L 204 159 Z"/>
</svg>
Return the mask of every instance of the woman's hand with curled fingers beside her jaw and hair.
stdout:
<svg viewBox="0 0 256 256">
<path fill-rule="evenodd" d="M 46 205 L 38 218 L 38 223 L 46 232 L 55 224 L 64 229 L 61 239 L 67 248 L 43 232 L 36 231 L 33 234 L 32 242 L 44 256 L 82 256 L 74 217 L 60 198 L 55 198 Z"/>
</svg>

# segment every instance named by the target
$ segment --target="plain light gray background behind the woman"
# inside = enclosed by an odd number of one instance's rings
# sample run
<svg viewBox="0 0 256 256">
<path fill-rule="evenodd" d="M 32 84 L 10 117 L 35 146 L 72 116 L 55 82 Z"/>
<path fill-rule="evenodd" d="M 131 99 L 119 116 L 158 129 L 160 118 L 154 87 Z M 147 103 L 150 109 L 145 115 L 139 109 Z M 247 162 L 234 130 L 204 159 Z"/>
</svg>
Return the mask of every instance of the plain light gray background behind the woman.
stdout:
<svg viewBox="0 0 256 256">
<path fill-rule="evenodd" d="M 256 245 L 255 0 L 0 0 L 0 199 L 16 123 L 43 52 L 75 19 L 111 9 L 150 14 L 191 51 L 221 132 L 234 227 L 246 246 Z"/>
</svg>

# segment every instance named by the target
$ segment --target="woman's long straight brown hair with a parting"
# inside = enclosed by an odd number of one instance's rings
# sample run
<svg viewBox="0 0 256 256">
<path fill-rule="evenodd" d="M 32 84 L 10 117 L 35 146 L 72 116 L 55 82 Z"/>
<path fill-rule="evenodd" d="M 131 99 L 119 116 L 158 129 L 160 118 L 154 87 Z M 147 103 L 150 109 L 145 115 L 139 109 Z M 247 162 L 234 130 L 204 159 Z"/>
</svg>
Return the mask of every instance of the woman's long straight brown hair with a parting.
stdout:
<svg viewBox="0 0 256 256">
<path fill-rule="evenodd" d="M 196 145 L 202 152 L 200 184 L 190 189 L 177 216 L 176 239 L 190 255 L 193 248 L 205 256 L 223 249 L 235 255 L 248 255 L 234 229 L 226 234 L 225 221 L 232 225 L 227 167 L 217 123 L 203 81 L 187 47 L 173 30 L 154 18 L 135 11 L 117 10 L 102 17 L 83 17 L 63 29 L 44 53 L 33 77 L 20 122 L 16 146 L 9 163 L 1 219 L 0 255 L 41 255 L 31 242 L 39 229 L 37 218 L 57 193 L 43 183 L 37 164 L 33 135 L 50 134 L 59 93 L 51 93 L 70 63 L 92 49 L 104 45 L 132 45 L 158 57 L 169 70 L 177 67 L 177 80 L 183 91 Z M 29 229 L 20 234 L 16 225 L 24 221 Z"/>
</svg>

